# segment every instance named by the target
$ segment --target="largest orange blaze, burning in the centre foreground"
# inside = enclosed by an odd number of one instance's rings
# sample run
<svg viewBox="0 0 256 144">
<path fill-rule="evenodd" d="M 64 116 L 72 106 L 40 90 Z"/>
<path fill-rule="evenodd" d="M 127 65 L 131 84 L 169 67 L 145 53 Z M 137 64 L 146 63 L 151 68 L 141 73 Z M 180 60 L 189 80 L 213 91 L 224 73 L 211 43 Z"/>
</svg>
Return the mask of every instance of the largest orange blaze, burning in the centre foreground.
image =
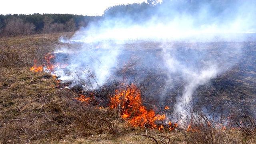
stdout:
<svg viewBox="0 0 256 144">
<path fill-rule="evenodd" d="M 155 121 L 166 118 L 164 114 L 156 115 L 153 110 L 147 110 L 142 105 L 140 90 L 134 84 L 126 86 L 123 90 L 116 90 L 116 94 L 110 100 L 110 107 L 120 110 L 121 117 L 135 127 L 157 128 Z"/>
</svg>

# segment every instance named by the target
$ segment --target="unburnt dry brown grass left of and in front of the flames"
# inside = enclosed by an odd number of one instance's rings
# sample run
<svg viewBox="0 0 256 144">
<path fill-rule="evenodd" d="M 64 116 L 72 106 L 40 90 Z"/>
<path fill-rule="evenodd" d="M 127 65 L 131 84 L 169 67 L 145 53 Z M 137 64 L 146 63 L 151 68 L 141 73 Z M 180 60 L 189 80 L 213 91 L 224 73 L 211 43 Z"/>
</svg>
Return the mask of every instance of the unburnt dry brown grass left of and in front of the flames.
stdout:
<svg viewBox="0 0 256 144">
<path fill-rule="evenodd" d="M 63 45 L 58 41 L 60 36 L 70 38 L 72 34 L 0 39 L 0 143 L 253 144 L 256 142 L 254 117 L 244 117 L 244 124 L 234 118 L 232 126 L 223 128 L 208 124 L 206 116 L 197 112 L 200 120 L 193 121 L 190 125 L 192 128 L 188 131 L 187 128 L 181 127 L 171 131 L 168 128 L 158 130 L 146 126 L 134 127 L 128 120 L 121 118 L 116 109 L 98 108 L 80 102 L 75 99 L 80 94 L 76 90 L 59 88 L 60 83 L 51 74 L 30 70 L 34 60 L 37 60 L 37 64 L 44 64 L 44 56 Z M 254 50 L 254 42 L 251 48 Z M 244 68 L 244 65 L 241 68 Z M 254 71 L 247 72 L 253 75 L 252 78 L 245 77 L 248 80 L 246 86 L 254 86 Z M 232 72 L 232 75 L 236 76 L 236 72 Z M 230 78 L 228 76 L 226 77 Z M 225 80 L 221 82 L 225 83 Z M 215 88 L 220 89 L 217 82 L 220 82 L 220 78 L 213 81 Z M 207 92 L 203 91 L 203 87 L 200 87 L 199 93 L 208 93 L 210 88 Z"/>
</svg>

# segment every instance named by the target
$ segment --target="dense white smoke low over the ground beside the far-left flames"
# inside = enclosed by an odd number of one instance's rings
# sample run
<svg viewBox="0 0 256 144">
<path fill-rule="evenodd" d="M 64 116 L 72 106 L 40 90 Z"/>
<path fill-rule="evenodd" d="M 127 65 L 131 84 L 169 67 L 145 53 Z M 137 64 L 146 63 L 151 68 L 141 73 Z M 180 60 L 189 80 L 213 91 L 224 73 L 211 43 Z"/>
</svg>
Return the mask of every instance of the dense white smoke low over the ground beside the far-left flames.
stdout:
<svg viewBox="0 0 256 144">
<path fill-rule="evenodd" d="M 73 82 L 74 84 L 89 84 L 86 87 L 96 88 L 106 83 L 111 76 L 110 70 L 116 66 L 118 48 L 108 44 L 80 48 L 62 48 L 55 52 L 62 63 L 68 64 L 65 68 L 57 67 L 54 74 L 60 76 L 60 80 Z M 65 60 L 67 58 L 67 60 Z"/>
</svg>

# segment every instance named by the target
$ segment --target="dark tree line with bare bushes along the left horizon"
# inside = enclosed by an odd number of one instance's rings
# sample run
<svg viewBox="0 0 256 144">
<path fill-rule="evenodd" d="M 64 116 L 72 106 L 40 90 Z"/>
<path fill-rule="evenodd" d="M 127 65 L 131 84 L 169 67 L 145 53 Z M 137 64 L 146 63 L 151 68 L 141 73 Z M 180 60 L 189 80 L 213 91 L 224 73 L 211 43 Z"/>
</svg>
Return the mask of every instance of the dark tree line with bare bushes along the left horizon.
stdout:
<svg viewBox="0 0 256 144">
<path fill-rule="evenodd" d="M 74 32 L 97 22 L 102 16 L 74 14 L 8 14 L 0 15 L 0 37 L 30 34 Z"/>
</svg>

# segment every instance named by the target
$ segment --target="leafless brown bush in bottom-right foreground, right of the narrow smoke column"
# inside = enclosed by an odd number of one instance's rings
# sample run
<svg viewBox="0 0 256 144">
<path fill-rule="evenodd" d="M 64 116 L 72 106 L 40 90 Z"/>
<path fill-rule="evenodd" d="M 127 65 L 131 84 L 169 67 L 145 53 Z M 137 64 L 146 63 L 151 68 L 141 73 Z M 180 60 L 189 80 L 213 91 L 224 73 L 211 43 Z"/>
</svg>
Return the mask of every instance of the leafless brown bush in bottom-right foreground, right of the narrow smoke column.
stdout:
<svg viewBox="0 0 256 144">
<path fill-rule="evenodd" d="M 202 106 L 200 106 L 202 107 Z M 229 120 L 224 120 L 221 110 L 215 105 L 190 109 L 186 116 L 188 139 L 200 144 L 238 143 L 230 136 Z M 227 128 L 228 127 L 228 128 Z"/>
</svg>

